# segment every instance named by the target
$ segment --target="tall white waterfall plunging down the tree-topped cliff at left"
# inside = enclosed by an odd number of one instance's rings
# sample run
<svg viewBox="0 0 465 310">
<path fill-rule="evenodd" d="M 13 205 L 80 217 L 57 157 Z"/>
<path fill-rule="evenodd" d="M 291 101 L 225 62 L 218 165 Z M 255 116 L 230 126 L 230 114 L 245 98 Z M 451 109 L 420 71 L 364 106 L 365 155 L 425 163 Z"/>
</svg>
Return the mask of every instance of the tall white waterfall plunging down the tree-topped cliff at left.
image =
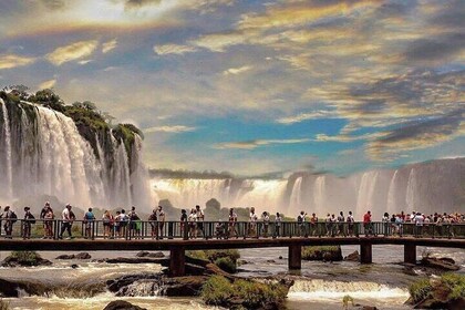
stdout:
<svg viewBox="0 0 465 310">
<path fill-rule="evenodd" d="M 135 204 L 149 209 L 152 194 L 137 135 L 130 161 L 124 143 L 111 133 L 106 141 L 95 136 L 94 152 L 64 114 L 27 102 L 8 104 L 0 99 L 0 103 L 2 204 L 49 195 L 81 208 Z M 37 203 L 37 207 L 43 204 Z"/>
</svg>

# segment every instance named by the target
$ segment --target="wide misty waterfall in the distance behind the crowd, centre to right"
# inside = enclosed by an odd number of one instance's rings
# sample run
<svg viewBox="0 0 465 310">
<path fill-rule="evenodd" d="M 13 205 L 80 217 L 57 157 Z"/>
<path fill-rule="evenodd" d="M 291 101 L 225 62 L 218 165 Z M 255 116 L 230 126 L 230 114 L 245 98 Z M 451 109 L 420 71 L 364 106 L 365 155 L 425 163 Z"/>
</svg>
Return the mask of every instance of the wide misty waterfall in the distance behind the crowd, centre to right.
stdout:
<svg viewBox="0 0 465 310">
<path fill-rule="evenodd" d="M 155 176 L 152 189 L 176 207 L 205 205 L 216 198 L 223 207 L 255 206 L 258 213 L 280 211 L 297 217 L 300 210 L 354 213 L 361 220 L 370 209 L 380 220 L 385 211 L 461 211 L 465 206 L 465 158 L 376 169 L 347 177 L 298 173 L 282 179 L 193 179 Z M 414 208 L 414 209 L 413 209 Z"/>
</svg>

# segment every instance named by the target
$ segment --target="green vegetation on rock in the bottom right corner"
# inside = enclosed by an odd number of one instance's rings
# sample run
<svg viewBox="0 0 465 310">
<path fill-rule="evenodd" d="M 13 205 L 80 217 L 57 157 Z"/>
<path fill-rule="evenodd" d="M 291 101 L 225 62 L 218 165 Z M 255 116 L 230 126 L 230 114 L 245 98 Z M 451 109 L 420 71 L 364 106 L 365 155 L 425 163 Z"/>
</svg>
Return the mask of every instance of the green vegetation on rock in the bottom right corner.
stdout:
<svg viewBox="0 0 465 310">
<path fill-rule="evenodd" d="M 465 299 L 465 276 L 444 273 L 440 279 L 422 279 L 412 283 L 409 292 L 413 303 L 430 298 L 442 302 Z"/>
</svg>

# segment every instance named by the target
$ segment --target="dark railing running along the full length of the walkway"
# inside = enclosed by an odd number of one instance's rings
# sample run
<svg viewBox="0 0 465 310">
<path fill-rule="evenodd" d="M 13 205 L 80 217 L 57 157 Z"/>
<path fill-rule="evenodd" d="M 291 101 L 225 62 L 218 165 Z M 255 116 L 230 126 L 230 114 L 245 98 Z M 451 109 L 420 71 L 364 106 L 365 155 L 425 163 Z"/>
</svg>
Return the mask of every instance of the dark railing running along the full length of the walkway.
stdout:
<svg viewBox="0 0 465 310">
<path fill-rule="evenodd" d="M 25 239 L 66 239 L 69 223 L 53 220 L 2 220 L 1 236 Z M 10 225 L 11 229 L 4 229 Z M 9 227 L 7 227 L 9 228 Z M 8 234 L 6 232 L 8 231 Z M 10 234 L 11 230 L 11 234 Z M 415 224 L 373 221 L 363 223 L 248 223 L 248 221 L 103 221 L 74 220 L 71 223 L 71 238 L 87 239 L 228 239 L 228 238 L 293 238 L 293 237 L 364 237 L 399 236 L 416 238 L 465 238 L 465 223 L 461 224 Z"/>
</svg>

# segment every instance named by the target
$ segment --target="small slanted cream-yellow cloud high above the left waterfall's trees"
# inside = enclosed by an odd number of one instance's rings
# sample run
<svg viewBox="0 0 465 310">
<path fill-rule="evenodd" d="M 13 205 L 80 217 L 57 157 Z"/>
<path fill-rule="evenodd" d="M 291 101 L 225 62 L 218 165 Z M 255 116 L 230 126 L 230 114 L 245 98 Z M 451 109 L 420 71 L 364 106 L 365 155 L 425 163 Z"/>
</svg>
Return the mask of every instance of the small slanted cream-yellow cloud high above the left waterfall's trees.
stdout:
<svg viewBox="0 0 465 310">
<path fill-rule="evenodd" d="M 96 40 L 75 42 L 55 49 L 50 54 L 46 54 L 45 58 L 54 65 L 61 65 L 69 61 L 90 56 L 97 48 L 97 44 L 99 41 Z"/>
</svg>

